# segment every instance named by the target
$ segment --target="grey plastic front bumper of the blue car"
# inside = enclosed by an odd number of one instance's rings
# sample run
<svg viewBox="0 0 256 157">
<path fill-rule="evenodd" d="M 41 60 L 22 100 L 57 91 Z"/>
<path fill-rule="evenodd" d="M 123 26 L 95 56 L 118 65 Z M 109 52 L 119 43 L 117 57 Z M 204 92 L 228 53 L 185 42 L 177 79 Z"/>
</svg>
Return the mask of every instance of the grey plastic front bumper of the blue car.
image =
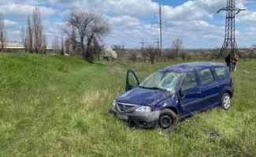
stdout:
<svg viewBox="0 0 256 157">
<path fill-rule="evenodd" d="M 123 113 L 117 111 L 117 109 L 113 107 L 111 108 L 110 112 L 117 116 L 117 118 L 128 122 L 130 126 L 139 126 L 146 129 L 156 126 L 158 117 L 160 115 L 160 111 L 133 111 L 130 113 Z"/>
</svg>

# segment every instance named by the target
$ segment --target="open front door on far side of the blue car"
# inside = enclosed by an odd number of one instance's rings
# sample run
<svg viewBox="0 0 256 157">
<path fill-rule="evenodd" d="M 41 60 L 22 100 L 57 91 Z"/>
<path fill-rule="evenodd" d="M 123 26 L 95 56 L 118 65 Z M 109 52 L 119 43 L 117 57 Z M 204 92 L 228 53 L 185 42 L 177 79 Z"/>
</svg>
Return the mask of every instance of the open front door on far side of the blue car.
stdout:
<svg viewBox="0 0 256 157">
<path fill-rule="evenodd" d="M 135 87 L 139 86 L 139 80 L 138 77 L 135 75 L 135 72 L 128 69 L 127 76 L 126 76 L 126 87 L 125 90 L 131 90 Z"/>
</svg>

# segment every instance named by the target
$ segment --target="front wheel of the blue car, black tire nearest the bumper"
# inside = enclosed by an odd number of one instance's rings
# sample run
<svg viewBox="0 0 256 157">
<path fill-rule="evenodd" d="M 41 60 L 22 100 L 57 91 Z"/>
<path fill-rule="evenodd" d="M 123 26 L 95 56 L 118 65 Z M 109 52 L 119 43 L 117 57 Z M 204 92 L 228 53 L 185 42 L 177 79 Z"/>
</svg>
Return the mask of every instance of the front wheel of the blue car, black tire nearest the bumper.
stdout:
<svg viewBox="0 0 256 157">
<path fill-rule="evenodd" d="M 162 130 L 174 130 L 176 128 L 176 113 L 169 109 L 163 109 L 158 118 L 158 126 Z"/>
</svg>

